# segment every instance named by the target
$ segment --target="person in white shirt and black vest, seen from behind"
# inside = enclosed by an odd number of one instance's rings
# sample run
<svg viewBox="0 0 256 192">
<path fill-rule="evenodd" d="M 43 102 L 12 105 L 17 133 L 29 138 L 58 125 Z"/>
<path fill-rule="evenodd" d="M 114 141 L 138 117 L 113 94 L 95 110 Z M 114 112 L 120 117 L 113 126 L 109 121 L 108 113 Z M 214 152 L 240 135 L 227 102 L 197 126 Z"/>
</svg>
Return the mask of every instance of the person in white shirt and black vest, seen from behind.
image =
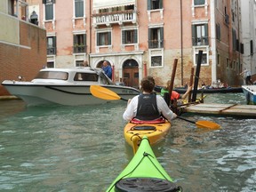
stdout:
<svg viewBox="0 0 256 192">
<path fill-rule="evenodd" d="M 177 115 L 168 107 L 161 95 L 154 92 L 155 80 L 147 76 L 140 81 L 141 93 L 128 100 L 123 118 L 131 121 L 132 118 L 140 121 L 152 121 L 164 116 L 169 122 Z"/>
</svg>

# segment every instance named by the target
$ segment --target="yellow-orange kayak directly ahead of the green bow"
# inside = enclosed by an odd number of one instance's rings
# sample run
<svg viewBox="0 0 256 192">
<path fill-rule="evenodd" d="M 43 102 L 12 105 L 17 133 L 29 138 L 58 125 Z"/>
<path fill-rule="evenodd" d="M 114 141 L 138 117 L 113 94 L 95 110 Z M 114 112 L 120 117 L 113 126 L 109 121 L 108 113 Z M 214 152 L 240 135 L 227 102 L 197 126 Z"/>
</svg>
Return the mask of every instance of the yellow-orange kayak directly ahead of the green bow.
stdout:
<svg viewBox="0 0 256 192">
<path fill-rule="evenodd" d="M 132 146 L 135 153 L 145 135 L 148 137 L 150 145 L 154 145 L 163 140 L 170 129 L 171 124 L 166 120 L 153 124 L 152 122 L 128 123 L 124 127 L 124 139 Z"/>
</svg>

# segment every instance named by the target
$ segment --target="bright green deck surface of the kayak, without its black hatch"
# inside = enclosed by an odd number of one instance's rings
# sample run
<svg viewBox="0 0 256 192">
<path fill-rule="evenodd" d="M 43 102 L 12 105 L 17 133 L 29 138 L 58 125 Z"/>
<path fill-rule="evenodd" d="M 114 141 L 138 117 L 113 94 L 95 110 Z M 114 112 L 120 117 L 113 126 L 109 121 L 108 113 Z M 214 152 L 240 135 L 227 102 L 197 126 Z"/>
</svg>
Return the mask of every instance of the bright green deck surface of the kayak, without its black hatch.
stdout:
<svg viewBox="0 0 256 192">
<path fill-rule="evenodd" d="M 125 167 L 124 171 L 121 172 L 116 180 L 108 188 L 107 192 L 116 191 L 118 186 L 118 181 L 127 180 L 127 179 L 134 179 L 134 180 L 145 180 L 145 179 L 159 179 L 172 182 L 172 178 L 168 175 L 167 172 L 164 171 L 164 168 L 156 159 L 156 156 L 150 147 L 150 141 L 148 140 L 147 136 L 144 136 L 141 140 L 140 147 L 136 154 L 133 156 L 131 162 Z M 172 185 L 174 185 L 172 183 Z M 174 185 L 175 186 L 175 185 Z M 154 187 L 154 186 L 150 186 Z M 145 186 L 146 188 L 146 186 Z M 173 187 L 173 188 L 176 188 Z M 172 190 L 172 191 L 178 191 Z M 125 190 L 128 191 L 128 190 Z M 133 191 L 133 190 L 132 190 Z M 147 190 L 149 191 L 149 190 Z M 156 190 L 161 191 L 161 190 Z M 167 191 L 167 190 L 166 190 Z M 168 190 L 171 191 L 171 190 Z"/>
</svg>

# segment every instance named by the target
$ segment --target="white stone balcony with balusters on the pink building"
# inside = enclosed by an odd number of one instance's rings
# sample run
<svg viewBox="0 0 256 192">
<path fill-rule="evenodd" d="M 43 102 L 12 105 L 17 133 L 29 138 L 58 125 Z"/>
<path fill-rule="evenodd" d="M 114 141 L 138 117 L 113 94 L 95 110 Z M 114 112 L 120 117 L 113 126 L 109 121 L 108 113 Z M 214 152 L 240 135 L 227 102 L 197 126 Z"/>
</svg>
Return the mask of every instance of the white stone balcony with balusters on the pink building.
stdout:
<svg viewBox="0 0 256 192">
<path fill-rule="evenodd" d="M 134 10 L 103 12 L 93 14 L 93 26 L 96 28 L 100 25 L 111 26 L 113 24 L 124 25 L 124 23 L 132 22 L 136 24 L 138 21 L 137 12 Z"/>
</svg>

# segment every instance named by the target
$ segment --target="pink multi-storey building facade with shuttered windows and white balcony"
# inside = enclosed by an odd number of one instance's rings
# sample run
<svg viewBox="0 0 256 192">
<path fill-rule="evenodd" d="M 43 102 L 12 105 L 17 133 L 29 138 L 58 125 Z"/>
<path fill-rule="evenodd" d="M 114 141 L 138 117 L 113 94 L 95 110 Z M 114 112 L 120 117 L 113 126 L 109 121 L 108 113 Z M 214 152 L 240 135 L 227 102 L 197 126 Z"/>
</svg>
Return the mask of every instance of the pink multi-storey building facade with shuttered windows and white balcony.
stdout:
<svg viewBox="0 0 256 192">
<path fill-rule="evenodd" d="M 47 31 L 47 66 L 113 68 L 112 79 L 138 87 L 144 76 L 164 85 L 178 59 L 175 85 L 188 83 L 203 51 L 200 81 L 238 85 L 243 54 L 240 4 L 220 0 L 39 1 Z M 234 17 L 233 17 L 234 14 Z M 236 16 L 236 17 L 235 17 Z"/>
</svg>

